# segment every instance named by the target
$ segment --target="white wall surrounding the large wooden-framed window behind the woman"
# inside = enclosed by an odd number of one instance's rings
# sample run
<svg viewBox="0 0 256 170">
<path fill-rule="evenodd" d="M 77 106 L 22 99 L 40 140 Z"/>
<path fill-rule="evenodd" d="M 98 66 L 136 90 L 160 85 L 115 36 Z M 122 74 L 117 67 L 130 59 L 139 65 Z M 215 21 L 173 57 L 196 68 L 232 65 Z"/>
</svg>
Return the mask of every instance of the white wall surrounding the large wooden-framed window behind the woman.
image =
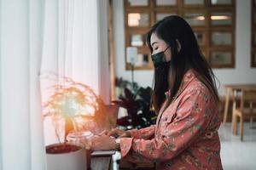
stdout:
<svg viewBox="0 0 256 170">
<path fill-rule="evenodd" d="M 117 77 L 131 80 L 125 71 L 125 23 L 123 0 L 113 0 L 113 32 Z M 256 69 L 251 68 L 251 1 L 236 1 L 236 67 L 214 69 L 220 82 L 219 93 L 224 94 L 225 83 L 256 83 Z M 134 80 L 141 86 L 152 85 L 153 71 L 135 71 Z"/>
</svg>

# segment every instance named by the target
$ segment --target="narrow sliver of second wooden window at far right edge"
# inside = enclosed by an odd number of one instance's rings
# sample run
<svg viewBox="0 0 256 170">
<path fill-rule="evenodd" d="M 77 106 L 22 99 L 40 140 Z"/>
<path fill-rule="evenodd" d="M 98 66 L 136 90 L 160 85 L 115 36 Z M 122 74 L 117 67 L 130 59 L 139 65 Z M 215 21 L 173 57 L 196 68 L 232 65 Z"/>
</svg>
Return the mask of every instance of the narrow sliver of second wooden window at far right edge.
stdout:
<svg viewBox="0 0 256 170">
<path fill-rule="evenodd" d="M 251 66 L 256 67 L 256 1 L 252 1 L 252 57 Z"/>
</svg>

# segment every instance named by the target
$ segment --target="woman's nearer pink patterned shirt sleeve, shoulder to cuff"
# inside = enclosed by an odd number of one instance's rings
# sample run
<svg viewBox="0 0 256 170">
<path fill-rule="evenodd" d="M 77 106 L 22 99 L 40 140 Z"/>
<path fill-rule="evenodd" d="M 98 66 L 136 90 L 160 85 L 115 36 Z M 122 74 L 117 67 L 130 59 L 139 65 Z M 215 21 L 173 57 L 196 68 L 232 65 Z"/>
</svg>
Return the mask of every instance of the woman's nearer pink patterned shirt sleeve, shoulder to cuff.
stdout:
<svg viewBox="0 0 256 170">
<path fill-rule="evenodd" d="M 174 158 L 207 128 L 212 110 L 209 94 L 194 90 L 185 94 L 177 107 L 177 118 L 166 124 L 166 133 L 154 139 L 120 139 L 121 156 L 133 162 L 166 161 Z"/>
</svg>

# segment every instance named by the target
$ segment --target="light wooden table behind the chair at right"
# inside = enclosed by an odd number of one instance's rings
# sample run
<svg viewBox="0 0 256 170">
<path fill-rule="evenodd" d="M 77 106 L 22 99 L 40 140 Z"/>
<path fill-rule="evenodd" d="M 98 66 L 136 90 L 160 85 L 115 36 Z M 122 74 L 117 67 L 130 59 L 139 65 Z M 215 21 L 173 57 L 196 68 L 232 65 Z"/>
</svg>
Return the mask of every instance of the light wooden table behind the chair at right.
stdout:
<svg viewBox="0 0 256 170">
<path fill-rule="evenodd" d="M 232 101 L 234 101 L 235 96 L 234 92 L 241 90 L 255 90 L 256 84 L 225 84 L 225 105 L 224 105 L 224 120 L 223 122 L 227 122 L 228 109 L 230 103 L 230 96 L 232 97 Z"/>
</svg>

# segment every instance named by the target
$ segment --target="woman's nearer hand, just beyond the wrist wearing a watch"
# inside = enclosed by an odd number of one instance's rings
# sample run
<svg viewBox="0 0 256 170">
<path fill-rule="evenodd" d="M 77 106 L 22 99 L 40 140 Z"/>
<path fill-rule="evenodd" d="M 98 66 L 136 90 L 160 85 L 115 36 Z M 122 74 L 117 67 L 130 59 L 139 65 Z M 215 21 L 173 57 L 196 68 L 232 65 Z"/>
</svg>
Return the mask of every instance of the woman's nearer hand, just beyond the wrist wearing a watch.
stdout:
<svg viewBox="0 0 256 170">
<path fill-rule="evenodd" d="M 91 150 L 115 150 L 115 139 L 108 135 L 94 136 L 91 139 Z"/>
</svg>

